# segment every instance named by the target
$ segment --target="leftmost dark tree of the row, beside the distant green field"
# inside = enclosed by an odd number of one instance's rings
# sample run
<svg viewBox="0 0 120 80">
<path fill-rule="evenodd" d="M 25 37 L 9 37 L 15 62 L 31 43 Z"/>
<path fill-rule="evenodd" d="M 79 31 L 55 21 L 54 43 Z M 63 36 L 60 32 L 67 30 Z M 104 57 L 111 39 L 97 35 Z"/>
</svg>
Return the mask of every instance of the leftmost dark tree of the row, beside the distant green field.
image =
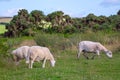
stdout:
<svg viewBox="0 0 120 80">
<path fill-rule="evenodd" d="M 15 15 L 10 24 L 6 26 L 8 31 L 5 33 L 5 36 L 20 36 L 21 33 L 29 27 L 28 17 L 29 14 L 27 10 L 19 10 L 18 15 Z"/>
</svg>

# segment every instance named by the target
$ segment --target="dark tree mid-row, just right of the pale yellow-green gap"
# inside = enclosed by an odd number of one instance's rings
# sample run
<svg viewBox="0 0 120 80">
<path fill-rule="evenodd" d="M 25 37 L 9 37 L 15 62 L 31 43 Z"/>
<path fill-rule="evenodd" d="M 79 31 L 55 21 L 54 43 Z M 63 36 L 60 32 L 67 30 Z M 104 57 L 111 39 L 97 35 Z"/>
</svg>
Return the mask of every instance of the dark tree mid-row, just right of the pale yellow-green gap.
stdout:
<svg viewBox="0 0 120 80">
<path fill-rule="evenodd" d="M 64 32 L 65 27 L 72 26 L 71 17 L 64 15 L 62 11 L 55 11 L 48 14 L 46 20 L 52 23 L 52 29 L 55 32 Z"/>
</svg>

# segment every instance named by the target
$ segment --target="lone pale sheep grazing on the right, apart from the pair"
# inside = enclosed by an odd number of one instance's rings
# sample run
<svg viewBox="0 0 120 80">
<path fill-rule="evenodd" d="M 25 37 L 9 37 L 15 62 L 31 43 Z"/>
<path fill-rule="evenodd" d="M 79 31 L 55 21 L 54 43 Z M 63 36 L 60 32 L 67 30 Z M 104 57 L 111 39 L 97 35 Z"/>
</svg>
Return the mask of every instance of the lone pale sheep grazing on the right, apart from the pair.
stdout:
<svg viewBox="0 0 120 80">
<path fill-rule="evenodd" d="M 106 55 L 109 58 L 112 58 L 112 52 L 106 49 L 102 44 L 99 42 L 92 42 L 92 41 L 81 41 L 78 46 L 78 55 L 77 57 L 80 57 L 81 52 L 84 52 L 83 55 L 87 58 L 88 56 L 85 55 L 85 53 L 91 52 L 95 53 L 92 57 L 94 59 L 94 56 L 97 54 L 98 56 L 100 55 L 100 51 L 103 51 L 106 53 Z"/>
</svg>

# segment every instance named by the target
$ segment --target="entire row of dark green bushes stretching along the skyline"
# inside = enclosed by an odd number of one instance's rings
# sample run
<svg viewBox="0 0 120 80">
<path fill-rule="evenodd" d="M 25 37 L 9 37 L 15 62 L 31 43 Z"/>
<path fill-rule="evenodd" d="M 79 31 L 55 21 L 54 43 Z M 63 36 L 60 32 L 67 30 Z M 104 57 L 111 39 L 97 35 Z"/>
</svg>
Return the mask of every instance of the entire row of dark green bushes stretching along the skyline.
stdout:
<svg viewBox="0 0 120 80">
<path fill-rule="evenodd" d="M 28 13 L 22 9 L 14 16 L 9 24 L 5 36 L 33 36 L 36 31 L 47 33 L 86 33 L 97 31 L 119 31 L 120 15 L 96 16 L 92 13 L 83 18 L 71 18 L 62 11 L 55 11 L 44 15 L 42 11 L 33 10 Z"/>
</svg>

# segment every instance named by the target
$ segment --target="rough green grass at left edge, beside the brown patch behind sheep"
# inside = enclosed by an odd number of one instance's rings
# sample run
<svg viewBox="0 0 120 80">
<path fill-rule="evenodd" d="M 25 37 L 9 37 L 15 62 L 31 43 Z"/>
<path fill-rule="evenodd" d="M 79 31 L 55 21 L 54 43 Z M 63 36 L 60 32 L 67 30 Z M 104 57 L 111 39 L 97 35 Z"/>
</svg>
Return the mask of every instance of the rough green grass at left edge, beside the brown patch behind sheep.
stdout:
<svg viewBox="0 0 120 80">
<path fill-rule="evenodd" d="M 20 47 L 24 40 L 31 40 L 31 37 L 0 38 L 0 56 L 8 57 L 13 49 Z"/>
</svg>

